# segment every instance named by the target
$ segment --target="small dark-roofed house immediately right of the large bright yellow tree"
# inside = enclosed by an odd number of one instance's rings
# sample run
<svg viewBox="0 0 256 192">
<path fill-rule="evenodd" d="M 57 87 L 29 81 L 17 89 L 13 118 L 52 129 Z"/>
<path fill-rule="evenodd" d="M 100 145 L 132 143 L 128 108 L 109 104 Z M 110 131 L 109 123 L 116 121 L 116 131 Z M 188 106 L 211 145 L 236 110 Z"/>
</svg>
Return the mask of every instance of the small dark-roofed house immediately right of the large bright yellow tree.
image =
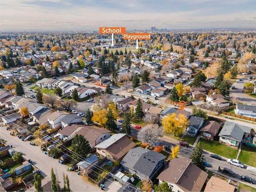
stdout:
<svg viewBox="0 0 256 192">
<path fill-rule="evenodd" d="M 197 133 L 200 131 L 201 127 L 203 126 L 204 118 L 192 116 L 188 121 L 188 126 L 186 128 L 187 135 L 189 136 L 196 136 Z"/>
</svg>

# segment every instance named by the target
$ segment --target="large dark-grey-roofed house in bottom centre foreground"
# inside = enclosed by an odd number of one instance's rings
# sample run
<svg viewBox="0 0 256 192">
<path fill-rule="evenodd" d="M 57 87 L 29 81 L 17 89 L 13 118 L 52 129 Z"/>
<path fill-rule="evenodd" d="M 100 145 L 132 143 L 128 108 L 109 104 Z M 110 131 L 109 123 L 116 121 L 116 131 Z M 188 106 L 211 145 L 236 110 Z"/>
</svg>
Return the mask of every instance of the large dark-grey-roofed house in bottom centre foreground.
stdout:
<svg viewBox="0 0 256 192">
<path fill-rule="evenodd" d="M 140 179 L 152 180 L 164 168 L 165 158 L 160 153 L 139 146 L 130 150 L 120 164 L 122 165 L 122 170 L 136 174 Z"/>
</svg>

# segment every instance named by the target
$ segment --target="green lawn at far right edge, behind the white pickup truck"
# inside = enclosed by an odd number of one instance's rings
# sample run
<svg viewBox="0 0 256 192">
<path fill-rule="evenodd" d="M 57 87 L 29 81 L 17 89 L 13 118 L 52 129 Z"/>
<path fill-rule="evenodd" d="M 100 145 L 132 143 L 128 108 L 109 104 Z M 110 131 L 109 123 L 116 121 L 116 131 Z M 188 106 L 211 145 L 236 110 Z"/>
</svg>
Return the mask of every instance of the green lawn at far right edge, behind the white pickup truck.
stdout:
<svg viewBox="0 0 256 192">
<path fill-rule="evenodd" d="M 256 167 L 256 148 L 242 145 L 242 151 L 238 160 L 247 165 Z"/>
</svg>

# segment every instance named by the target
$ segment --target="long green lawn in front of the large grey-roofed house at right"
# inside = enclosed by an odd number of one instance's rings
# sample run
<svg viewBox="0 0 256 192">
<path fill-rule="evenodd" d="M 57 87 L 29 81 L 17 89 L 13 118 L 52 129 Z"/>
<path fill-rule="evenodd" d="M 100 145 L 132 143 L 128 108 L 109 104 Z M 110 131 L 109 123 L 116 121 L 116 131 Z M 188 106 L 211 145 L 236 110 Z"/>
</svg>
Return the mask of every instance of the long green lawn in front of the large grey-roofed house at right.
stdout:
<svg viewBox="0 0 256 192">
<path fill-rule="evenodd" d="M 215 153 L 217 155 L 234 159 L 237 156 L 238 150 L 227 145 L 219 143 L 219 141 L 211 141 L 200 139 L 202 148 L 211 153 Z"/>
</svg>

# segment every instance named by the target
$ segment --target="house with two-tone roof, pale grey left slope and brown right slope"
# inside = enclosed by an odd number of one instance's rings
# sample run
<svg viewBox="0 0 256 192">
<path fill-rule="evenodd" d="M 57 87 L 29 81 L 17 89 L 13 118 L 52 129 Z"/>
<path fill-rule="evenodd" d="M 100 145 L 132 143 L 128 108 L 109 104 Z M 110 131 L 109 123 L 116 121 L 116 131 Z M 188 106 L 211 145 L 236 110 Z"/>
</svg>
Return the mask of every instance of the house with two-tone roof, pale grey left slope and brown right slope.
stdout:
<svg viewBox="0 0 256 192">
<path fill-rule="evenodd" d="M 95 146 L 96 152 L 115 162 L 122 159 L 136 144 L 126 134 L 114 134 Z"/>
</svg>

